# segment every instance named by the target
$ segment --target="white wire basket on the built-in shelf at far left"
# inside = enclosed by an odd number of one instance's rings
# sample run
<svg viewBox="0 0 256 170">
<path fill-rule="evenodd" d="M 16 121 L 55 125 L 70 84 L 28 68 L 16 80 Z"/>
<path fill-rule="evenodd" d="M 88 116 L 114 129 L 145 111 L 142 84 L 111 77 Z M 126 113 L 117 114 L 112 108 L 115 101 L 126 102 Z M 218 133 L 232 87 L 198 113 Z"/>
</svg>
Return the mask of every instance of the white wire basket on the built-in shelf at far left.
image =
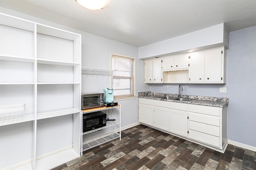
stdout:
<svg viewBox="0 0 256 170">
<path fill-rule="evenodd" d="M 0 106 L 0 123 L 20 121 L 24 118 L 26 104 Z"/>
</svg>

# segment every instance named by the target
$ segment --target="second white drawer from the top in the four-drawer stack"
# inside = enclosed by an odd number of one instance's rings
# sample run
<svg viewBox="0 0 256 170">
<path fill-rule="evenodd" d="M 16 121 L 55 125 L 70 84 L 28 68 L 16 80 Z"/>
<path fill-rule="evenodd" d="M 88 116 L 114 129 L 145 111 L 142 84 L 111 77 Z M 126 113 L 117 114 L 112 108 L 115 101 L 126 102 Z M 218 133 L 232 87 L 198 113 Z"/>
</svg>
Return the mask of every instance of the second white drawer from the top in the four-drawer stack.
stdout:
<svg viewBox="0 0 256 170">
<path fill-rule="evenodd" d="M 189 112 L 189 120 L 196 121 L 200 123 L 205 123 L 214 126 L 220 126 L 220 117 L 218 116 L 211 116 L 211 115 L 204 115 L 200 113 L 192 113 Z"/>
</svg>

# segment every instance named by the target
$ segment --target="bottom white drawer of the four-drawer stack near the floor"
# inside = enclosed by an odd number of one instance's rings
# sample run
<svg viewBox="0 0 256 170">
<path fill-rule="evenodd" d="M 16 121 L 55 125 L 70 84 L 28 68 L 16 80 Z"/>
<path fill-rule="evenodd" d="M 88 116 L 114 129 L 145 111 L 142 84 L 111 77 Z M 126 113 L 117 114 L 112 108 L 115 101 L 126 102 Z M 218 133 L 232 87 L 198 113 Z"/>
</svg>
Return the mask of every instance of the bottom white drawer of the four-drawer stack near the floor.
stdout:
<svg viewBox="0 0 256 170">
<path fill-rule="evenodd" d="M 208 145 L 212 145 L 214 147 L 218 147 L 218 148 L 220 147 L 220 138 L 216 136 L 208 135 L 206 133 L 189 130 L 189 138 L 206 143 Z"/>
</svg>

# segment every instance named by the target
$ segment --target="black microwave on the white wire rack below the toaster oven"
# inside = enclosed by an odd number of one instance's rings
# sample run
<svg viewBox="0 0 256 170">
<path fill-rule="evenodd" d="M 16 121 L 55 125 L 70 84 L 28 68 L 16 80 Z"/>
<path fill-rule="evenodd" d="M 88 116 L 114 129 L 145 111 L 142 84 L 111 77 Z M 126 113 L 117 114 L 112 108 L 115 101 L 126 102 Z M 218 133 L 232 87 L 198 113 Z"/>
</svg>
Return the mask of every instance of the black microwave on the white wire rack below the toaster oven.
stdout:
<svg viewBox="0 0 256 170">
<path fill-rule="evenodd" d="M 83 132 L 106 126 L 106 113 L 96 111 L 83 114 Z"/>
</svg>

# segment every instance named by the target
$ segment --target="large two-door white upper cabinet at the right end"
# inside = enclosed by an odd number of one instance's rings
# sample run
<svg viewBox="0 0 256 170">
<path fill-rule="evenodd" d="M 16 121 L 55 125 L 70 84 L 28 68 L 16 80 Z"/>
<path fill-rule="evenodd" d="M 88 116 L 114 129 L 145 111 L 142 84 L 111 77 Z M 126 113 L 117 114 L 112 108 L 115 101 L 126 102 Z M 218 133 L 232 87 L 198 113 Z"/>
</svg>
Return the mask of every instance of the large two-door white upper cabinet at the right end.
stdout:
<svg viewBox="0 0 256 170">
<path fill-rule="evenodd" d="M 224 47 L 194 52 L 190 55 L 190 83 L 226 83 Z"/>
</svg>

